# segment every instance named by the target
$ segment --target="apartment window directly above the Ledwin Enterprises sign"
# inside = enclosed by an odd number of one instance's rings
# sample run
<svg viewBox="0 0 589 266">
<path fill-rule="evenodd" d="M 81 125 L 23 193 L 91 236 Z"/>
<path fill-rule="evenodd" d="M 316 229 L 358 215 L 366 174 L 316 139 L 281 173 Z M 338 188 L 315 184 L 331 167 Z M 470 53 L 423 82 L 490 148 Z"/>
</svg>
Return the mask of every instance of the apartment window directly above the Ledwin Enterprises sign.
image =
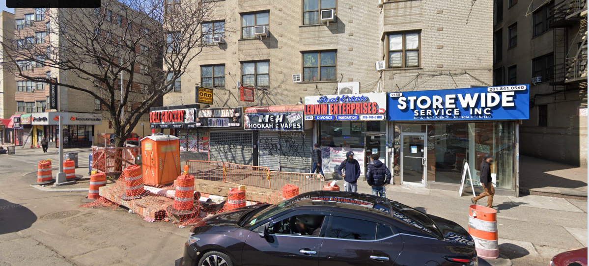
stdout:
<svg viewBox="0 0 589 266">
<path fill-rule="evenodd" d="M 335 81 L 336 52 L 303 54 L 303 81 Z"/>
</svg>

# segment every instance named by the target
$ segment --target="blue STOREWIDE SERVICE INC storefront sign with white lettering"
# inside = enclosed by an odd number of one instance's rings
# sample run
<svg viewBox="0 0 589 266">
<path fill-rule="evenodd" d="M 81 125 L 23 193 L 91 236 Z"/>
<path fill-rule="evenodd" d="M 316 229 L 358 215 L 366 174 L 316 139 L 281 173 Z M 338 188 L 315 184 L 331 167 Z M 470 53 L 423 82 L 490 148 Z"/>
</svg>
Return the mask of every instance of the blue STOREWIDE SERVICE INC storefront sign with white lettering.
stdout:
<svg viewBox="0 0 589 266">
<path fill-rule="evenodd" d="M 387 119 L 518 120 L 530 118 L 530 85 L 435 91 L 393 92 L 387 95 Z"/>
</svg>

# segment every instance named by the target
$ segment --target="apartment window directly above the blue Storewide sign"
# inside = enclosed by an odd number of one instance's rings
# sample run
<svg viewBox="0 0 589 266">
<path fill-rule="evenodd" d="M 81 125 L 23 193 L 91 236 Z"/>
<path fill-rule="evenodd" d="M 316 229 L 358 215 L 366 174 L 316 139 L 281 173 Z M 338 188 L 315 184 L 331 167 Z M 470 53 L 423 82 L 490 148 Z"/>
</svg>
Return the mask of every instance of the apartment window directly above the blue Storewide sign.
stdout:
<svg viewBox="0 0 589 266">
<path fill-rule="evenodd" d="M 420 40 L 419 32 L 389 34 L 389 68 L 419 67 Z"/>
</svg>

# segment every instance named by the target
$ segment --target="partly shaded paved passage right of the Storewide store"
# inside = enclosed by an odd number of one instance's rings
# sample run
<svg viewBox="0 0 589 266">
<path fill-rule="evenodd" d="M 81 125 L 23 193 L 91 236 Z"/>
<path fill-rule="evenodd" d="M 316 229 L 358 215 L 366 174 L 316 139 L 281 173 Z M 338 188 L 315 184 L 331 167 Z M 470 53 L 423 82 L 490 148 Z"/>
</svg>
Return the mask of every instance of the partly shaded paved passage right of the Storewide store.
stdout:
<svg viewBox="0 0 589 266">
<path fill-rule="evenodd" d="M 587 168 L 520 156 L 519 192 L 587 200 Z"/>
</svg>

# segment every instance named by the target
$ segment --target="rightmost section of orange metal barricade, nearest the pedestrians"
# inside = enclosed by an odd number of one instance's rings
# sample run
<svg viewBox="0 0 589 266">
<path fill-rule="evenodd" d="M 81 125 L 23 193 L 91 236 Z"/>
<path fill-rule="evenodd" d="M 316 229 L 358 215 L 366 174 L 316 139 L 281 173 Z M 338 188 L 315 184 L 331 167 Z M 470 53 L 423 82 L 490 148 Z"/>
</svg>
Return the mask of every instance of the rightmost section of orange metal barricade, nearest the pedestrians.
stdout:
<svg viewBox="0 0 589 266">
<path fill-rule="evenodd" d="M 299 187 L 300 194 L 323 190 L 323 186 L 325 185 L 325 178 L 320 174 L 270 171 L 269 177 L 272 188 L 280 189 L 286 184 L 292 184 Z"/>
</svg>

